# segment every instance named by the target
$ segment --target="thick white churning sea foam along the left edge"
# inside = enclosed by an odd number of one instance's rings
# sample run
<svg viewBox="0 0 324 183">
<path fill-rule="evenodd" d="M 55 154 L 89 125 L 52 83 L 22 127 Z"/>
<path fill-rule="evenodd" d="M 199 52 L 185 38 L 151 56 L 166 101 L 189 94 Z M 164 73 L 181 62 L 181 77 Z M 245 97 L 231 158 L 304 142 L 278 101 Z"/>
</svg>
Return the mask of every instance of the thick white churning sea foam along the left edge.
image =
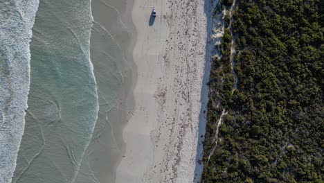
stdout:
<svg viewBox="0 0 324 183">
<path fill-rule="evenodd" d="M 11 182 L 24 133 L 38 0 L 0 0 L 0 183 Z"/>
</svg>

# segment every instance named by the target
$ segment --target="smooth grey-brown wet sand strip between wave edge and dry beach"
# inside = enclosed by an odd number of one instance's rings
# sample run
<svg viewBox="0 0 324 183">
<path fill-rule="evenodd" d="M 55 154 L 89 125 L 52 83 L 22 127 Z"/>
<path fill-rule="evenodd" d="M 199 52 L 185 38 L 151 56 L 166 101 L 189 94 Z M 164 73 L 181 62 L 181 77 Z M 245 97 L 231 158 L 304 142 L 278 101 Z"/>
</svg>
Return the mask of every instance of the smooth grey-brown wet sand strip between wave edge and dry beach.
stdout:
<svg viewBox="0 0 324 183">
<path fill-rule="evenodd" d="M 125 152 L 122 130 L 134 102 L 129 91 L 136 67 L 132 50 L 136 32 L 132 1 L 93 0 L 90 55 L 98 89 L 99 112 L 93 138 L 76 182 L 115 182 L 116 166 Z M 127 105 L 126 96 L 129 96 Z"/>
</svg>

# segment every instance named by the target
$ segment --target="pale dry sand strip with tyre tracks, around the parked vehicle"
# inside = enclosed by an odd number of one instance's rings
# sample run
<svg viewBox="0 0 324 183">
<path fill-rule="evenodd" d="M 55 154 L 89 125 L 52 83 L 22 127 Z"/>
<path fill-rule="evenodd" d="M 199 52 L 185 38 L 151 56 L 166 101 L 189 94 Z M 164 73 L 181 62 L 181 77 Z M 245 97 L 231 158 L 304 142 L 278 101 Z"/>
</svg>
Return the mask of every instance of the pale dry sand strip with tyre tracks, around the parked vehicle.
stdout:
<svg viewBox="0 0 324 183">
<path fill-rule="evenodd" d="M 192 182 L 206 52 L 204 0 L 135 0 L 132 17 L 138 77 L 116 182 Z"/>
</svg>

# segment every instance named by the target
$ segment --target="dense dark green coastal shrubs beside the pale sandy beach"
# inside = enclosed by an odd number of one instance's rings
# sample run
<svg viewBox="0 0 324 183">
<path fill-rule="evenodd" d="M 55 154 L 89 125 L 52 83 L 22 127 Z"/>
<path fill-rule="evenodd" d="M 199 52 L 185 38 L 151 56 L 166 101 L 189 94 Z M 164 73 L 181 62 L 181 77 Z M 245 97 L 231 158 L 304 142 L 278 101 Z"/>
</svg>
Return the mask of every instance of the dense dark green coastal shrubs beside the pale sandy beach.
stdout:
<svg viewBox="0 0 324 183">
<path fill-rule="evenodd" d="M 213 58 L 210 72 L 205 183 L 324 182 L 323 11 L 323 0 L 236 0 L 238 85 L 232 95 L 226 28 L 217 48 L 222 58 Z M 207 164 L 224 108 L 228 114 Z"/>
</svg>

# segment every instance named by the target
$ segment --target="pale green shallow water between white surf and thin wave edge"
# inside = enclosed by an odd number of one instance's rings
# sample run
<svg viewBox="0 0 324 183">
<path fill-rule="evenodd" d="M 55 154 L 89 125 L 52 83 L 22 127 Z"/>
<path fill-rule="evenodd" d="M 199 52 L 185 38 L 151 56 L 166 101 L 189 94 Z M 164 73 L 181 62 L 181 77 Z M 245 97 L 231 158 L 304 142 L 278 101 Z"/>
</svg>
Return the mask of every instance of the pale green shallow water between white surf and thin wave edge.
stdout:
<svg viewBox="0 0 324 183">
<path fill-rule="evenodd" d="M 39 1 L 26 125 L 12 182 L 75 180 L 98 114 L 92 20 L 90 0 Z"/>
</svg>

